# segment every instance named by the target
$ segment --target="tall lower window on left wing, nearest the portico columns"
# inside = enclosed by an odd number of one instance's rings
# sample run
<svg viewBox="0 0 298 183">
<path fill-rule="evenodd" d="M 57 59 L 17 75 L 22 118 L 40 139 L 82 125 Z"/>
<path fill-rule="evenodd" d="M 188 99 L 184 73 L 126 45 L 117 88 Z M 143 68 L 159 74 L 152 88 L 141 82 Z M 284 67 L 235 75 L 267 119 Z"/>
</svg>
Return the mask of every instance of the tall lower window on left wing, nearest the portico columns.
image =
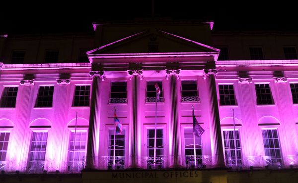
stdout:
<svg viewBox="0 0 298 183">
<path fill-rule="evenodd" d="M 85 166 L 87 132 L 71 132 L 68 171 L 80 172 Z"/>
</svg>

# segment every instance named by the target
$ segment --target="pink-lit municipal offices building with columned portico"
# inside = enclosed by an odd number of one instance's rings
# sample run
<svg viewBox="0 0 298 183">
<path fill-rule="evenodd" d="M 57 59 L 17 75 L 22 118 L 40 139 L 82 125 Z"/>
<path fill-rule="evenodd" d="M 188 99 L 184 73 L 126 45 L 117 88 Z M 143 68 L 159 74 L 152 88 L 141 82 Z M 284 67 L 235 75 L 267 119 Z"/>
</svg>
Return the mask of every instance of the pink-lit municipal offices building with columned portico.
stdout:
<svg viewBox="0 0 298 183">
<path fill-rule="evenodd" d="M 90 170 L 108 170 L 98 174 L 152 181 L 298 165 L 296 34 L 168 20 L 93 27 L 94 35 L 0 37 L 3 174 L 85 169 L 90 181 Z"/>
</svg>

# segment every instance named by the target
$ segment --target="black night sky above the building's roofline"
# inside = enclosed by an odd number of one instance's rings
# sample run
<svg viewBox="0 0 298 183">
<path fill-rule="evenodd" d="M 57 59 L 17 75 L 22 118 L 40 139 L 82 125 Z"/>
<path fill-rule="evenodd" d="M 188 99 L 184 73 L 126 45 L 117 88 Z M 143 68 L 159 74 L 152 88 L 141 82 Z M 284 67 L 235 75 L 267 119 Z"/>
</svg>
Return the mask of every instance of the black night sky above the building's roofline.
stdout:
<svg viewBox="0 0 298 183">
<path fill-rule="evenodd" d="M 195 3 L 193 2 L 195 1 Z M 199 0 L 155 0 L 155 15 L 179 19 L 215 20 L 214 30 L 298 30 L 297 7 L 288 3 L 262 5 L 258 1 L 202 3 Z M 183 2 L 183 3 L 182 3 Z M 68 4 L 1 3 L 0 33 L 92 32 L 97 20 L 130 20 L 149 17 L 151 0 L 87 1 Z M 37 6 L 37 7 L 34 7 Z"/>
</svg>

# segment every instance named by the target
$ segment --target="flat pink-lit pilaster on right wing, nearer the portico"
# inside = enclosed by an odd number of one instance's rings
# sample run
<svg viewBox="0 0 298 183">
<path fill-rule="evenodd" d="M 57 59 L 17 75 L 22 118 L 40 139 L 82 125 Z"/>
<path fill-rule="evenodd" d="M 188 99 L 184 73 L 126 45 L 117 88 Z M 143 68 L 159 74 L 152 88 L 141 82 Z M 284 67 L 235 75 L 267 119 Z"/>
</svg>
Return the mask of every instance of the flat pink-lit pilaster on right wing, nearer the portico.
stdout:
<svg viewBox="0 0 298 183">
<path fill-rule="evenodd" d="M 247 158 L 244 159 L 244 162 L 248 163 L 245 166 L 262 166 L 260 154 L 264 147 L 262 133 L 258 126 L 255 87 L 252 84 L 252 78 L 238 78 L 238 80 L 238 106 L 241 111 L 243 128 L 245 128 L 240 138 L 241 144 L 243 144 L 243 157 Z"/>
</svg>

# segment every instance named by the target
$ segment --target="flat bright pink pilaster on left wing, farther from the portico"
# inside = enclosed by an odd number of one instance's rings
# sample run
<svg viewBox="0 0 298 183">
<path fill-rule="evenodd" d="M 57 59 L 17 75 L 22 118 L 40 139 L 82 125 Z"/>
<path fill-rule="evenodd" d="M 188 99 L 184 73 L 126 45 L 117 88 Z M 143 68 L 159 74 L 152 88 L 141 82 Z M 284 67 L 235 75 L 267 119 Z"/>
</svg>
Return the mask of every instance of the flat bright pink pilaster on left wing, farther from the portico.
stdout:
<svg viewBox="0 0 298 183">
<path fill-rule="evenodd" d="M 13 159 L 16 161 L 19 171 L 25 171 L 28 149 L 30 146 L 30 114 L 32 109 L 32 92 L 34 80 L 21 80 L 16 100 L 16 119 L 13 129 L 15 136 L 11 144 L 11 152 L 14 152 Z"/>
</svg>

